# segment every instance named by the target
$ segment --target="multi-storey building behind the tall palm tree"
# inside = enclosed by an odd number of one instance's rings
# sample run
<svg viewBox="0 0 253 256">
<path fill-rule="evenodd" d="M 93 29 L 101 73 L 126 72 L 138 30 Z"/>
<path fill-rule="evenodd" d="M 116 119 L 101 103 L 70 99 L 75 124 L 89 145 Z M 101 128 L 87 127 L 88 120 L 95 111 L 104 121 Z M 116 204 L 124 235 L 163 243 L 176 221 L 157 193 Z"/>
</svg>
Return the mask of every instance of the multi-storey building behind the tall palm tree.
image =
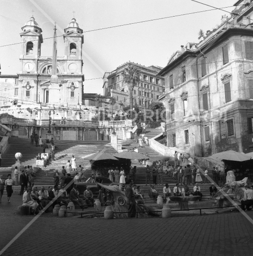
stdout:
<svg viewBox="0 0 253 256">
<path fill-rule="evenodd" d="M 162 70 L 158 66 L 145 67 L 133 62 L 127 62 L 111 73 L 105 73 L 103 79 L 103 93 L 105 96 L 115 97 L 115 109 L 122 109 L 129 105 L 128 87 L 123 82 L 123 74 L 127 65 L 136 66 L 141 74 L 141 82 L 133 89 L 133 103 L 141 110 L 147 108 L 152 102 L 157 101 L 164 92 L 164 79 L 157 73 Z"/>
</svg>

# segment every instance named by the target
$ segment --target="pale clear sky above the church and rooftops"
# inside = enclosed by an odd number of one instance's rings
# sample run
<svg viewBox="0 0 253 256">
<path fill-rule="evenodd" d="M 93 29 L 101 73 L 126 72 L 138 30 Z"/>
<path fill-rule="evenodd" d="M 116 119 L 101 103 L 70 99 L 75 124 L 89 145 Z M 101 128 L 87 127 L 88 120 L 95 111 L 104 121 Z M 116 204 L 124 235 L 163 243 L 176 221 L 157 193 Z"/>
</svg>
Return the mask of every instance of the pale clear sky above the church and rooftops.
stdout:
<svg viewBox="0 0 253 256">
<path fill-rule="evenodd" d="M 236 0 L 199 0 L 232 11 Z M 43 38 L 63 35 L 71 19 L 76 18 L 83 31 L 113 27 L 156 18 L 171 17 L 213 9 L 192 0 L 0 0 L 0 65 L 2 74 L 19 72 L 21 27 L 34 15 Z M 32 12 L 34 10 L 34 12 Z M 75 13 L 73 14 L 73 11 Z M 166 66 L 181 45 L 199 42 L 198 32 L 221 23 L 226 11 L 211 10 L 139 24 L 83 33 L 83 74 L 85 93 L 103 93 L 105 72 L 128 61 L 145 66 Z M 16 44 L 6 46 L 10 44 Z M 58 37 L 57 55 L 64 55 L 63 37 Z M 44 39 L 42 56 L 52 56 L 53 39 Z M 94 79 L 100 78 L 100 79 Z"/>
</svg>

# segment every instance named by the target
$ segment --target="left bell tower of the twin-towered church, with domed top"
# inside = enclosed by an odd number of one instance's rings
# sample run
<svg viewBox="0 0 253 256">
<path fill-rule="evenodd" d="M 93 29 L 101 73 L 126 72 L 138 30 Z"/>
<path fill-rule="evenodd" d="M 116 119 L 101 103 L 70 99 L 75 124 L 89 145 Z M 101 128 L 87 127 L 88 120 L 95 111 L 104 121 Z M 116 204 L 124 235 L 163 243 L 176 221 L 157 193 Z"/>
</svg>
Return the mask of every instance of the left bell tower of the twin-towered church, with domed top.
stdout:
<svg viewBox="0 0 253 256">
<path fill-rule="evenodd" d="M 37 73 L 37 59 L 41 54 L 41 44 L 43 43 L 41 33 L 42 29 L 34 17 L 31 17 L 22 27 L 20 73 Z"/>
</svg>

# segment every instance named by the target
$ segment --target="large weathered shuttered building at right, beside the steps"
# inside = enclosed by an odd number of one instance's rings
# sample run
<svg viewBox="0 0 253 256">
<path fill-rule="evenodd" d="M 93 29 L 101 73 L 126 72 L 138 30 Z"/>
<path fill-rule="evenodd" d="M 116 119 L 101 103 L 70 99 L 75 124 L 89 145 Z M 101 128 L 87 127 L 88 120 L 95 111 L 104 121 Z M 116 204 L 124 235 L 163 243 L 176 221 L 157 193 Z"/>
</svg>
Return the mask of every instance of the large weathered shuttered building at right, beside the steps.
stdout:
<svg viewBox="0 0 253 256">
<path fill-rule="evenodd" d="M 158 73 L 169 147 L 195 156 L 253 151 L 253 1 L 238 1 L 234 13 Z"/>
</svg>

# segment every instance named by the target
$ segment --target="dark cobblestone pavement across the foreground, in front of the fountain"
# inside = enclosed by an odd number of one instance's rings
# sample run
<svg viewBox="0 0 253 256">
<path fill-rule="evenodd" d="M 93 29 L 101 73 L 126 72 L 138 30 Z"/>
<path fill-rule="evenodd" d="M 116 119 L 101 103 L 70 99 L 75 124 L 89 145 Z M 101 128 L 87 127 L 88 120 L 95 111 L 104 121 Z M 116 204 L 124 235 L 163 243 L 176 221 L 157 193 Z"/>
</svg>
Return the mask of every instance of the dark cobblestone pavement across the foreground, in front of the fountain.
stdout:
<svg viewBox="0 0 253 256">
<path fill-rule="evenodd" d="M 32 216 L 15 214 L 21 196 L 0 204 L 0 248 Z M 253 211 L 248 211 L 253 218 Z M 170 219 L 80 219 L 44 214 L 3 256 L 252 256 L 253 225 L 240 213 Z"/>
</svg>

